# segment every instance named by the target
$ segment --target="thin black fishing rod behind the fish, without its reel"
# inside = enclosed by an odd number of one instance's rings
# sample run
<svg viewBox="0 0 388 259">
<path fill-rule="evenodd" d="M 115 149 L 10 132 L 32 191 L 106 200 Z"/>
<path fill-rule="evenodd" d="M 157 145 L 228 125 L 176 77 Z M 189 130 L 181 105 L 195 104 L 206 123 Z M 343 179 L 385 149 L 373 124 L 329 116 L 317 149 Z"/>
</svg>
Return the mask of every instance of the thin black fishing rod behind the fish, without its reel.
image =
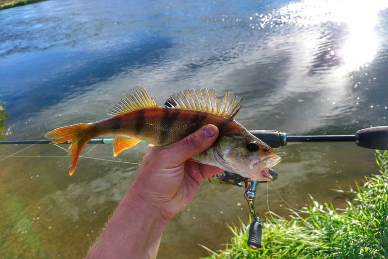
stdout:
<svg viewBox="0 0 388 259">
<path fill-rule="evenodd" d="M 357 146 L 370 149 L 388 149 L 388 126 L 371 127 L 357 130 L 353 135 L 312 135 L 288 136 L 287 133 L 276 130 L 252 130 L 255 137 L 264 141 L 272 148 L 287 145 L 290 142 L 355 142 Z M 0 144 L 49 144 L 51 140 L 6 140 Z M 62 143 L 62 144 L 66 144 Z M 91 139 L 88 144 L 112 144 L 112 138 Z M 141 143 L 146 143 L 141 141 Z"/>
</svg>

